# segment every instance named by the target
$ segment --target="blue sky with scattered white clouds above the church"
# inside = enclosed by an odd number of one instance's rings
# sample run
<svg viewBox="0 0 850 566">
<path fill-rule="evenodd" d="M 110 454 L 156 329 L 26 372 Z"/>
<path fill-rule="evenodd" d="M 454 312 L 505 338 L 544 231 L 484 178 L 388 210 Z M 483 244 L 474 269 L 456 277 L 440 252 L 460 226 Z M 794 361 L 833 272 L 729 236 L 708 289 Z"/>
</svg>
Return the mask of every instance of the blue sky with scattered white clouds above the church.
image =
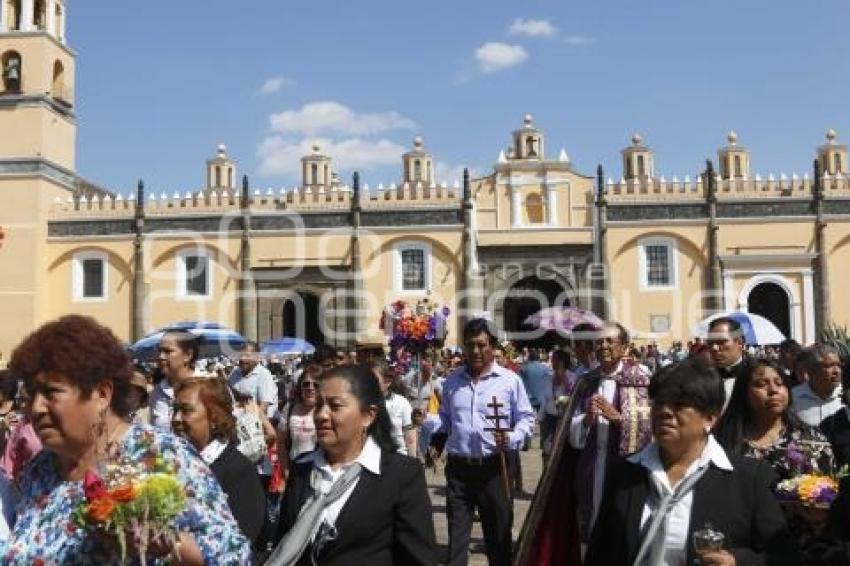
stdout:
<svg viewBox="0 0 850 566">
<path fill-rule="evenodd" d="M 78 171 L 129 191 L 203 183 L 228 145 L 260 187 L 294 185 L 322 139 L 348 179 L 398 181 L 414 135 L 453 180 L 488 173 L 526 112 L 577 170 L 619 177 L 634 131 L 656 174 L 693 175 L 730 129 L 754 172 L 802 173 L 850 140 L 846 0 L 89 0 Z M 265 88 L 264 88 L 265 87 Z"/>
</svg>

